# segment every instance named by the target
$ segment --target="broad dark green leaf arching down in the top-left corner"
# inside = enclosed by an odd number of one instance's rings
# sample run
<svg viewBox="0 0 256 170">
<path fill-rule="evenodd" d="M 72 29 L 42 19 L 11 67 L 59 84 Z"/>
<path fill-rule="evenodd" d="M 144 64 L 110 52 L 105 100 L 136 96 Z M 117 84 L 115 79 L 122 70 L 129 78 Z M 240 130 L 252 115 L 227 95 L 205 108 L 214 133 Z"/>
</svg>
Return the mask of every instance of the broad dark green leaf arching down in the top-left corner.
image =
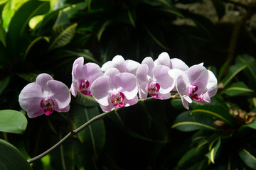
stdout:
<svg viewBox="0 0 256 170">
<path fill-rule="evenodd" d="M 28 22 L 34 16 L 48 12 L 50 4 L 48 1 L 27 1 L 14 14 L 6 33 L 6 45 L 10 51 L 16 52 L 18 38 L 29 33 Z"/>
</svg>

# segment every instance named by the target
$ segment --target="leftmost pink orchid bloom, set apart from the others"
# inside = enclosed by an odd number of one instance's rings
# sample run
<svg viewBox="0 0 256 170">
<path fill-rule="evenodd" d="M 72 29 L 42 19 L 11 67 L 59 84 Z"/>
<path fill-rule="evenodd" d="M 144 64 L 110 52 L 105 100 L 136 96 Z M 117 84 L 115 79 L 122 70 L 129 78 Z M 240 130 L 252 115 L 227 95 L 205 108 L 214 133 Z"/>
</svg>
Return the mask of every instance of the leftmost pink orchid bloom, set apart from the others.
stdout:
<svg viewBox="0 0 256 170">
<path fill-rule="evenodd" d="M 29 118 L 50 115 L 53 111 L 67 112 L 70 100 L 68 87 L 53 80 L 49 74 L 39 74 L 36 82 L 26 85 L 18 96 L 18 102 Z"/>
</svg>

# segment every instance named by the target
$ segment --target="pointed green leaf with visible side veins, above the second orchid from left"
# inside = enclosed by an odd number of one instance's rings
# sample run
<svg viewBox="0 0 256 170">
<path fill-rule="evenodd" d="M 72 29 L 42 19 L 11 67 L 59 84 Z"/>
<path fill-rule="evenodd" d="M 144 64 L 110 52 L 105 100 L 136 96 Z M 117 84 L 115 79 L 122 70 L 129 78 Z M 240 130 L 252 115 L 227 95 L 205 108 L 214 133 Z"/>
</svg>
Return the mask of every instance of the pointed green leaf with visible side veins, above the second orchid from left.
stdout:
<svg viewBox="0 0 256 170">
<path fill-rule="evenodd" d="M 78 23 L 74 23 L 73 25 L 68 26 L 68 28 L 65 28 L 63 25 L 57 26 L 54 29 L 55 34 L 57 34 L 57 37 L 50 44 L 48 50 L 53 50 L 55 48 L 67 45 L 73 39 L 75 35 L 75 28 L 77 26 Z"/>
</svg>

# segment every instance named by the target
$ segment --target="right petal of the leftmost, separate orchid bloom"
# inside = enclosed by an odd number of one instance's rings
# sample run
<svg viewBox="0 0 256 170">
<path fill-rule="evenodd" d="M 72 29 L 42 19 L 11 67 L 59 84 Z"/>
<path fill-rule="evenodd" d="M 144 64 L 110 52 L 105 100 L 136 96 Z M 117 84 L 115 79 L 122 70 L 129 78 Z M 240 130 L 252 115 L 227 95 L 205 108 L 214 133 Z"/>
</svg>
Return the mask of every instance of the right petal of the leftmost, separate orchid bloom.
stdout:
<svg viewBox="0 0 256 170">
<path fill-rule="evenodd" d="M 48 81 L 47 86 L 50 89 L 49 97 L 56 101 L 58 108 L 65 108 L 69 105 L 71 96 L 68 86 L 57 80 Z"/>
</svg>

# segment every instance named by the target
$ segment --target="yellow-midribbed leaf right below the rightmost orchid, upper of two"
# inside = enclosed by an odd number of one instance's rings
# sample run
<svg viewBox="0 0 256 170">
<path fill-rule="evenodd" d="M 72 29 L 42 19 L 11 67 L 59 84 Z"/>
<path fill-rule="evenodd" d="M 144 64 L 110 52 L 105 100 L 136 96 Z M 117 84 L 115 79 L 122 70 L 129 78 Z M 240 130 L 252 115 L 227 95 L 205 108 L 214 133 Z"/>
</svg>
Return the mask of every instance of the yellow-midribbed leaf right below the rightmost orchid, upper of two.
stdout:
<svg viewBox="0 0 256 170">
<path fill-rule="evenodd" d="M 196 108 L 191 111 L 191 115 L 208 115 L 210 117 L 215 117 L 219 120 L 223 120 L 229 125 L 235 125 L 232 115 L 230 115 L 230 113 L 228 113 L 228 109 L 223 108 L 223 106 L 196 106 Z"/>
</svg>

